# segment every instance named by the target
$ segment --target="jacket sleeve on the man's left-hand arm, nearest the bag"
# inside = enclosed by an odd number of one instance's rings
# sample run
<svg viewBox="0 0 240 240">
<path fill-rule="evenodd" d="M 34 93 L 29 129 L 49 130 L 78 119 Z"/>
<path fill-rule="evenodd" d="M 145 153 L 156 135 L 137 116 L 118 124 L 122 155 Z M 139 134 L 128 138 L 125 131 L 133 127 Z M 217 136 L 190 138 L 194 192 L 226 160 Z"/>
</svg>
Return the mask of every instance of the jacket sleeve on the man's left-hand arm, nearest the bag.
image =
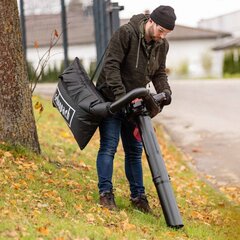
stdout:
<svg viewBox="0 0 240 240">
<path fill-rule="evenodd" d="M 108 88 L 112 91 L 115 100 L 126 94 L 121 78 L 121 63 L 128 53 L 130 32 L 124 25 L 112 36 L 106 51 L 104 72 Z"/>
</svg>

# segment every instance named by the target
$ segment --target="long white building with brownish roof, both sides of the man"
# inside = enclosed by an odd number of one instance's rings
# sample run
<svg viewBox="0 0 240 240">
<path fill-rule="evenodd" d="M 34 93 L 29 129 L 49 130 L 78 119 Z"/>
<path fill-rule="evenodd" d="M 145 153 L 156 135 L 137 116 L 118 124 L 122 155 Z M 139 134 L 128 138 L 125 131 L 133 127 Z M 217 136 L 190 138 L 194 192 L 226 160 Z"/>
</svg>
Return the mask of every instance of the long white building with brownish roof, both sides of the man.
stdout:
<svg viewBox="0 0 240 240">
<path fill-rule="evenodd" d="M 128 19 L 121 19 L 121 24 Z M 91 8 L 81 4 L 69 7 L 67 12 L 69 59 L 79 57 L 86 70 L 96 60 L 94 21 Z M 39 59 L 49 50 L 55 29 L 61 34 L 61 15 L 26 16 L 27 59 L 37 66 Z M 221 52 L 214 51 L 216 43 L 230 37 L 224 31 L 206 30 L 176 25 L 169 34 L 170 49 L 167 59 L 169 76 L 172 78 L 221 77 Z M 54 38 L 56 39 L 56 38 Z M 37 47 L 37 48 L 36 48 Z M 51 49 L 49 65 L 60 65 L 63 60 L 62 38 Z"/>
</svg>

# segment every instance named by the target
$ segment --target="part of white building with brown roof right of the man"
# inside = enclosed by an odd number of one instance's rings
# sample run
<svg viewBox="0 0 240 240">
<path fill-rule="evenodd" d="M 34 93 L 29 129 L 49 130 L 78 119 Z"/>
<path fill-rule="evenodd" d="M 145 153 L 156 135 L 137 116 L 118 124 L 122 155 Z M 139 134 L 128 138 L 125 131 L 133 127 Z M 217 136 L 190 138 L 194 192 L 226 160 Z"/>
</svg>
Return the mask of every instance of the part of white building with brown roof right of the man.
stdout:
<svg viewBox="0 0 240 240">
<path fill-rule="evenodd" d="M 169 34 L 167 65 L 172 77 L 221 77 L 223 54 L 213 47 L 230 33 L 176 25 Z"/>
</svg>

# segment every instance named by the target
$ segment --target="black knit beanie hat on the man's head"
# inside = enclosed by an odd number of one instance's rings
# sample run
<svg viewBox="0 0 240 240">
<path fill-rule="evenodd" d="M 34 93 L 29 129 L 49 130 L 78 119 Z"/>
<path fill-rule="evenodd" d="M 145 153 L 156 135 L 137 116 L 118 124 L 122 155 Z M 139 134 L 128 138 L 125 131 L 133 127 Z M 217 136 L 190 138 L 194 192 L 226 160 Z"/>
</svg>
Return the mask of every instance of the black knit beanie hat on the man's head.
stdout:
<svg viewBox="0 0 240 240">
<path fill-rule="evenodd" d="M 174 9 L 170 6 L 159 6 L 150 14 L 150 18 L 161 27 L 173 30 L 175 26 L 176 15 Z"/>
</svg>

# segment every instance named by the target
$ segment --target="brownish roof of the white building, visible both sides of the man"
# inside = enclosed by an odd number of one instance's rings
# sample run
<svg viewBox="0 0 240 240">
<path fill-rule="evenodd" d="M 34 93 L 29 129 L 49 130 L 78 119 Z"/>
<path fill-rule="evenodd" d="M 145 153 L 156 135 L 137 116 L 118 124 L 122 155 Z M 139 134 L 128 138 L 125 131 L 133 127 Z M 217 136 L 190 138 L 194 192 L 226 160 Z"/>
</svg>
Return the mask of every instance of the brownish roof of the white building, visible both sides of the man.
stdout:
<svg viewBox="0 0 240 240">
<path fill-rule="evenodd" d="M 49 46 L 51 34 L 56 29 L 61 31 L 61 14 L 29 15 L 26 19 L 27 46 L 33 47 L 34 42 L 38 45 Z M 121 25 L 129 19 L 121 19 Z M 81 12 L 69 12 L 67 14 L 68 43 L 69 45 L 93 44 L 95 43 L 94 20 L 91 14 Z M 176 25 L 169 40 L 192 40 L 192 39 L 216 39 L 231 36 L 230 33 L 205 30 L 200 28 Z M 62 44 L 62 38 L 58 44 Z"/>
</svg>

